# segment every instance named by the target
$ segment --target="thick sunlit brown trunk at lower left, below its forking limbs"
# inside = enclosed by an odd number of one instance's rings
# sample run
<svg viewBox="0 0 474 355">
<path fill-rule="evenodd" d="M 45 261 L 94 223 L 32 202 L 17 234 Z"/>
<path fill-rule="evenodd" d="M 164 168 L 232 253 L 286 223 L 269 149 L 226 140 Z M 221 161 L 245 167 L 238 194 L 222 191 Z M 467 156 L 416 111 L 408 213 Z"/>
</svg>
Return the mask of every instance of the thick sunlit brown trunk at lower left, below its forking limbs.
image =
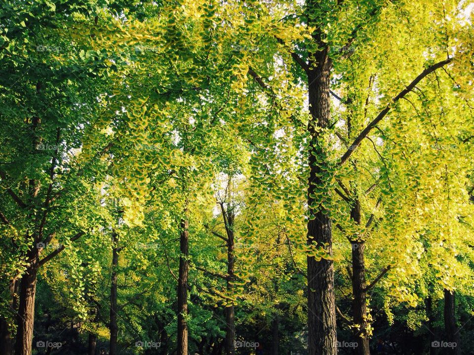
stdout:
<svg viewBox="0 0 474 355">
<path fill-rule="evenodd" d="M 35 250 L 36 251 L 36 250 Z M 38 254 L 35 254 L 38 256 Z M 37 257 L 33 256 L 26 273 L 21 278 L 19 304 L 17 314 L 17 333 L 15 355 L 31 355 L 33 342 L 33 326 L 35 324 L 35 294 L 38 277 Z"/>
</svg>

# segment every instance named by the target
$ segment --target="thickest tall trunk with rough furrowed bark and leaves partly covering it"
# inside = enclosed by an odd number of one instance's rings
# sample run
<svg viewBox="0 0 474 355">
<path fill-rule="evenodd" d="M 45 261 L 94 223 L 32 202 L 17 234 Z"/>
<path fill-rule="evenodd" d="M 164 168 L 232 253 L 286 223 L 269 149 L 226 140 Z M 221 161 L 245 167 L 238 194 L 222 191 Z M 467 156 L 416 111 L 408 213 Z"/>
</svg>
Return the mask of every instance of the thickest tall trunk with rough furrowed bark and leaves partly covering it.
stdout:
<svg viewBox="0 0 474 355">
<path fill-rule="evenodd" d="M 319 190 L 326 183 L 321 175 L 329 174 L 327 153 L 320 139 L 320 129 L 328 126 L 330 120 L 329 79 L 332 62 L 327 56 L 327 48 L 314 54 L 315 62 L 310 62 L 308 71 L 308 95 L 311 119 L 308 181 L 308 221 L 307 244 L 325 247 L 332 256 L 332 231 L 329 211 L 317 201 L 315 195 L 329 191 Z M 316 158 L 317 157 L 317 158 Z M 334 266 L 332 260 L 317 261 L 307 257 L 308 268 L 308 354 L 337 354 L 336 304 L 334 296 Z"/>
</svg>

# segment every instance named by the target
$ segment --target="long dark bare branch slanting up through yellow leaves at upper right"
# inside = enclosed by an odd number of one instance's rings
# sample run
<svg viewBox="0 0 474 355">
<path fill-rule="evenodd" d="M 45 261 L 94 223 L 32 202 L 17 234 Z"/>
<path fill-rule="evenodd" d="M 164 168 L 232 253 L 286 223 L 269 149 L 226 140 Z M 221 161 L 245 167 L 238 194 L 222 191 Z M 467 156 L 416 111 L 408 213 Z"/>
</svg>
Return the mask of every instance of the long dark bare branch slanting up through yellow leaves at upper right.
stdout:
<svg viewBox="0 0 474 355">
<path fill-rule="evenodd" d="M 349 157 L 352 155 L 352 153 L 356 150 L 356 148 L 359 146 L 360 142 L 362 142 L 362 140 L 367 137 L 367 135 L 369 134 L 369 132 L 372 130 L 372 128 L 374 128 L 374 126 L 379 123 L 386 115 L 387 113 L 390 111 L 390 109 L 392 108 L 392 105 L 395 104 L 398 100 L 400 100 L 401 98 L 403 98 L 406 94 L 408 94 L 410 91 L 413 90 L 413 88 L 415 87 L 416 84 L 418 84 L 425 76 L 427 76 L 428 74 L 432 73 L 433 71 L 435 71 L 436 69 L 438 68 L 441 68 L 449 63 L 451 63 L 453 61 L 453 58 L 448 58 L 446 60 L 443 60 L 441 62 L 438 62 L 430 67 L 428 67 L 427 69 L 425 69 L 424 71 L 422 71 L 421 74 L 419 74 L 406 88 L 404 88 L 402 91 L 400 91 L 398 93 L 398 95 L 396 95 L 391 101 L 390 103 L 385 106 L 385 108 L 377 115 L 377 117 L 375 117 L 375 119 L 370 122 L 367 127 L 365 127 L 362 132 L 360 132 L 360 134 L 357 136 L 357 138 L 354 140 L 354 142 L 352 143 L 352 145 L 349 147 L 349 149 L 346 151 L 346 153 L 344 153 L 344 155 L 342 156 L 341 158 L 341 161 L 339 162 L 339 165 L 343 165 L 348 159 Z"/>
</svg>

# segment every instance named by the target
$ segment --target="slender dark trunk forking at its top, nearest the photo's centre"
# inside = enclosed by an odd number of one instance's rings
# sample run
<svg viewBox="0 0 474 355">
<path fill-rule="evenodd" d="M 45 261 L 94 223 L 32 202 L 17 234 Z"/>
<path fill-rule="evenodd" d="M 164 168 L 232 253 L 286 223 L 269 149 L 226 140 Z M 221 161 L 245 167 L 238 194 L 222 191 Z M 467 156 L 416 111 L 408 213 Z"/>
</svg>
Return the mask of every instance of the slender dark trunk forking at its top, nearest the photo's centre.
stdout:
<svg viewBox="0 0 474 355">
<path fill-rule="evenodd" d="M 234 281 L 234 213 L 228 211 L 224 213 L 224 223 L 226 223 L 227 232 L 227 291 L 230 292 L 233 288 Z M 227 214 L 227 218 L 226 218 Z M 234 355 L 235 349 L 235 333 L 236 322 L 234 315 L 234 305 L 226 307 L 226 355 Z"/>
</svg>

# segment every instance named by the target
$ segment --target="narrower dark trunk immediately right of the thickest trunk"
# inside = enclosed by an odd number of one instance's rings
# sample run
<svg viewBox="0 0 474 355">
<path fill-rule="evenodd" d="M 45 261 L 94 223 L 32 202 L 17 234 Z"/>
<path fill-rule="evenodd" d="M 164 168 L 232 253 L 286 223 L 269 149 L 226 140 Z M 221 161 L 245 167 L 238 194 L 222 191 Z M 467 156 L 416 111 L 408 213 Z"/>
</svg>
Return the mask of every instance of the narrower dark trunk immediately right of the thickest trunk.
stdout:
<svg viewBox="0 0 474 355">
<path fill-rule="evenodd" d="M 360 225 L 360 202 L 358 198 L 353 201 L 351 209 L 351 218 L 357 225 Z M 357 236 L 354 236 L 357 238 Z M 365 291 L 365 260 L 364 249 L 365 242 L 363 240 L 353 240 L 352 246 L 352 293 L 353 317 L 354 323 L 358 328 L 354 329 L 354 336 L 357 341 L 357 353 L 359 355 L 370 355 L 369 338 L 365 333 L 367 328 L 367 294 Z"/>
</svg>

